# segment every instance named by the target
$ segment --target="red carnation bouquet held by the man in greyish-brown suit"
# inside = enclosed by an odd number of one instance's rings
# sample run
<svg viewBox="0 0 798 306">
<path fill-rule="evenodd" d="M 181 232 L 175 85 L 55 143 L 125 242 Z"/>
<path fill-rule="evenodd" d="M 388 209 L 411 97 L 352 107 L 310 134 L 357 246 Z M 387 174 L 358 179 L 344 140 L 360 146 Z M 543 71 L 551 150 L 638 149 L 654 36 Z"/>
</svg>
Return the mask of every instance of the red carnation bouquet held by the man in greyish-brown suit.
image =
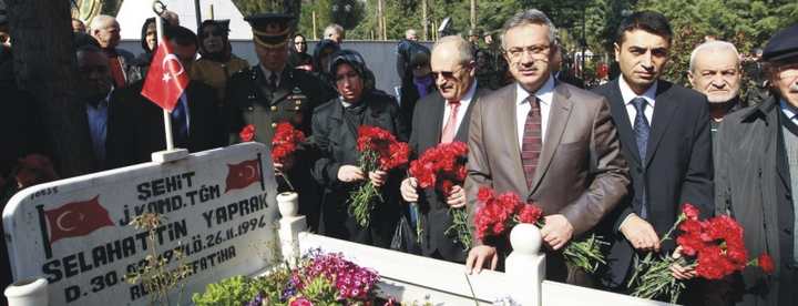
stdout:
<svg viewBox="0 0 798 306">
<path fill-rule="evenodd" d="M 519 223 L 530 223 L 538 227 L 545 225 L 543 211 L 534 203 L 521 202 L 521 198 L 507 192 L 495 195 L 489 187 L 480 187 L 477 200 L 482 206 L 477 211 L 474 225 L 477 237 L 501 236 Z M 567 263 L 585 272 L 595 273 L 600 264 L 606 264 L 601 245 L 606 244 L 600 237 L 591 235 L 581 241 L 571 241 L 563 249 Z"/>
</svg>

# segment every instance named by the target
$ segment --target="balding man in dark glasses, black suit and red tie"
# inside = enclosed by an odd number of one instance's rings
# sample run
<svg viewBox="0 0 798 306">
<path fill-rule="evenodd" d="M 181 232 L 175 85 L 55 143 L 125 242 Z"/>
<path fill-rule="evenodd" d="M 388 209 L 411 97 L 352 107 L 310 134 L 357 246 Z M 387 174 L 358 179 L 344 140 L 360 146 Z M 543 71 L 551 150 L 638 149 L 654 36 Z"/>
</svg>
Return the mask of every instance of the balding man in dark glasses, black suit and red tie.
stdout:
<svg viewBox="0 0 798 306">
<path fill-rule="evenodd" d="M 410 134 L 410 147 L 416 156 L 439 143 L 468 142 L 471 110 L 479 103 L 480 98 L 488 93 L 477 84 L 477 63 L 469 42 L 460 37 L 444 37 L 436 42 L 431 67 L 438 91 L 416 104 Z M 421 208 L 422 254 L 451 262 L 464 262 L 464 248 L 470 245 L 461 245 L 457 236 L 444 234 L 452 225 L 450 207 L 466 206 L 464 190 L 458 185 L 452 188 L 451 194 L 442 194 L 434 187 L 420 192 L 417 187 L 418 181 L 415 177 L 402 181 L 402 198 L 417 203 Z M 419 193 L 422 194 L 421 197 Z"/>
</svg>

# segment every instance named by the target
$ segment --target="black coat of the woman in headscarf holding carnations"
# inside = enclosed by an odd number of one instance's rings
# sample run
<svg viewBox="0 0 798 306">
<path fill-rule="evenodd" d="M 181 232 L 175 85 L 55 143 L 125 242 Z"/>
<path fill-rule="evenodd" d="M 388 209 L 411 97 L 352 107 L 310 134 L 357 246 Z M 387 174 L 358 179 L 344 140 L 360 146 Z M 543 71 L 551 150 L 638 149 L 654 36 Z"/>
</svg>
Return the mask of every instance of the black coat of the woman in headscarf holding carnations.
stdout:
<svg viewBox="0 0 798 306">
<path fill-rule="evenodd" d="M 370 92 L 360 103 L 366 103 L 361 125 L 385 129 L 399 141 L 407 141 L 407 129 L 393 98 Z M 314 164 L 313 174 L 324 187 L 319 228 L 321 234 L 327 236 L 388 247 L 399 220 L 399 180 L 403 170 L 389 173 L 388 182 L 381 187 L 385 203 L 375 206 L 368 228 L 359 227 L 347 212 L 347 200 L 349 193 L 362 182 L 338 181 L 338 169 L 341 165 L 358 165 L 360 157 L 357 151 L 357 131 L 349 128 L 344 112 L 338 99 L 330 100 L 314 112 L 313 139 L 320 156 Z"/>
</svg>

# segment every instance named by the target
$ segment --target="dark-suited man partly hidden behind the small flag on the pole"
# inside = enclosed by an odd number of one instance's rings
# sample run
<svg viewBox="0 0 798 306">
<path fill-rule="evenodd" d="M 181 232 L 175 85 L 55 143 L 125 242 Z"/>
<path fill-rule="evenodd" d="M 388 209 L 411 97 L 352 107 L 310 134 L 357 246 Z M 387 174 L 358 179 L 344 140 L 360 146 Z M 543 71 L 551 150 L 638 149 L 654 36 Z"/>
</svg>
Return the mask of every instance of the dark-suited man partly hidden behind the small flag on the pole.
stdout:
<svg viewBox="0 0 798 306">
<path fill-rule="evenodd" d="M 166 27 L 164 37 L 185 71 L 196 54 L 196 35 L 183 27 Z M 112 167 L 151 161 L 166 149 L 163 110 L 141 95 L 144 80 L 121 90 L 109 108 L 108 161 Z M 172 111 L 175 147 L 198 152 L 224 146 L 226 133 L 213 88 L 191 81 Z"/>
</svg>

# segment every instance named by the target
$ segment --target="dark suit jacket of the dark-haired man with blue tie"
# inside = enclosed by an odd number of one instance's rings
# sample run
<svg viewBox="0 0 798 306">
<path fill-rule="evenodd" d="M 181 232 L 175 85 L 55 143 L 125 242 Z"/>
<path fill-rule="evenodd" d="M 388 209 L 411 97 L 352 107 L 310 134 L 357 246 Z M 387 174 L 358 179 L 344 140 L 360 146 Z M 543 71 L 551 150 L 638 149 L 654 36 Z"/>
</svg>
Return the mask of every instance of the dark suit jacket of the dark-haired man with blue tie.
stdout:
<svg viewBox="0 0 798 306">
<path fill-rule="evenodd" d="M 714 198 L 709 114 L 706 96 L 659 80 L 647 156 L 643 164 L 618 80 L 596 88 L 594 92 L 610 101 L 632 177 L 628 195 L 600 225 L 611 243 L 607 256 L 611 268 L 603 275 L 603 280 L 610 287 L 617 287 L 625 285 L 624 279 L 630 273 L 634 254 L 618 226 L 631 213 L 641 215 L 644 190 L 648 211 L 646 221 L 654 226 L 659 237 L 676 222 L 683 203 L 697 206 L 703 217 L 712 215 Z M 664 245 L 665 251 L 672 248 L 672 242 Z"/>
</svg>

